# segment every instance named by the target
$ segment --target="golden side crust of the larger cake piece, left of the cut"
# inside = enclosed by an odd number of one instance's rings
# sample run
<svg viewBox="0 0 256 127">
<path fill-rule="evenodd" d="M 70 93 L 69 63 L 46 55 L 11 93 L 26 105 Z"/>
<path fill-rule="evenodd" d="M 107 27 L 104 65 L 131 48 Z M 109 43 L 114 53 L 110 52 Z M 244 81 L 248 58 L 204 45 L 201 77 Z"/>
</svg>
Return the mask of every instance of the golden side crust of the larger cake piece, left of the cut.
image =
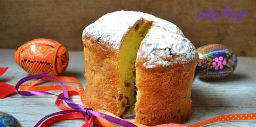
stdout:
<svg viewBox="0 0 256 127">
<path fill-rule="evenodd" d="M 85 95 L 86 104 L 89 108 L 107 110 L 115 115 L 118 112 L 120 101 L 118 101 L 119 68 L 118 54 L 97 40 L 83 37 L 84 57 L 87 86 Z M 108 84 L 108 85 L 107 85 Z"/>
</svg>

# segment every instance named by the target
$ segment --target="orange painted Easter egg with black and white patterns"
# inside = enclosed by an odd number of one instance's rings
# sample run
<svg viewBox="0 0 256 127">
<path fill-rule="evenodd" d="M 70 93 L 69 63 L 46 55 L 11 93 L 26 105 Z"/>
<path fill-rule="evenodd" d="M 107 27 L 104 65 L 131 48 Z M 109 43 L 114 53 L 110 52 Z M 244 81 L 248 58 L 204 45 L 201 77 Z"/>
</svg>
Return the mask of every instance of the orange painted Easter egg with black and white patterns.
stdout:
<svg viewBox="0 0 256 127">
<path fill-rule="evenodd" d="M 66 70 L 68 52 L 57 41 L 38 38 L 21 45 L 15 51 L 16 63 L 29 74 L 49 74 L 57 76 Z"/>
</svg>

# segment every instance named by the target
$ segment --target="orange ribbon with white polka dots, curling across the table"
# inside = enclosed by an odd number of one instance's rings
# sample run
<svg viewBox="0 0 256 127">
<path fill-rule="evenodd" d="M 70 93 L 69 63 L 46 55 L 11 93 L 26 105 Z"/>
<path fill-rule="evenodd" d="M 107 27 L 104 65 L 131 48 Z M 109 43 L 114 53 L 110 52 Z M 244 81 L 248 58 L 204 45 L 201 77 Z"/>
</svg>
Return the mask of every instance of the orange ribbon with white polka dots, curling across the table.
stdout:
<svg viewBox="0 0 256 127">
<path fill-rule="evenodd" d="M 55 77 L 54 77 L 55 78 Z M 78 85 L 78 89 L 73 86 L 73 85 L 65 85 L 65 88 L 68 92 L 68 96 L 73 96 L 73 95 L 79 95 L 81 102 L 84 106 L 86 106 L 85 104 L 85 100 L 86 97 L 84 96 L 84 89 L 81 85 L 81 83 L 79 83 L 78 79 L 75 77 L 69 77 L 69 76 L 57 76 L 57 78 L 60 80 L 60 82 L 69 82 L 69 83 L 76 83 Z M 54 85 L 46 85 L 46 86 L 38 86 L 40 84 L 43 84 L 44 82 L 55 82 L 55 80 L 53 78 L 49 78 L 49 77 L 43 77 L 40 79 L 37 79 L 33 82 L 24 84 L 20 86 L 20 91 L 49 91 L 49 90 L 62 90 L 61 85 L 59 84 L 54 84 Z M 101 117 L 84 117 L 84 115 L 81 112 L 77 112 L 72 108 L 68 108 L 67 106 L 65 106 L 62 103 L 62 99 L 63 99 L 63 94 L 65 95 L 65 93 L 61 93 L 60 95 L 57 95 L 57 99 L 55 104 L 57 105 L 57 107 L 59 107 L 60 109 L 64 110 L 61 112 L 57 112 L 54 114 L 59 114 L 59 115 L 55 115 L 53 117 L 49 117 L 48 119 L 44 119 L 44 121 L 40 120 L 40 122 L 42 123 L 40 127 L 47 127 L 51 124 L 54 124 L 58 121 L 64 121 L 64 120 L 72 120 L 72 119 L 81 119 L 85 121 L 85 124 L 82 125 L 81 127 L 92 127 L 92 123 L 99 126 L 99 127 L 114 127 L 113 124 L 111 122 L 109 122 L 108 120 L 101 118 Z M 121 119 L 120 117 L 111 114 L 107 111 L 97 111 L 99 113 L 103 113 L 115 118 L 118 118 L 117 120 L 119 121 L 124 121 L 124 122 L 129 122 L 132 125 L 134 125 L 135 127 L 148 127 L 139 123 L 135 123 L 135 122 L 130 122 L 130 121 L 126 121 L 124 119 Z M 50 114 L 51 115 L 51 114 Z M 47 116 L 46 116 L 47 117 Z M 222 115 L 222 116 L 218 116 L 215 118 L 211 118 L 209 120 L 206 121 L 202 121 L 193 125 L 182 125 L 182 124 L 175 124 L 175 123 L 169 123 L 169 124 L 162 124 L 162 125 L 157 125 L 154 127 L 203 127 L 205 125 L 209 125 L 215 122 L 221 122 L 221 121 L 243 121 L 243 120 L 256 120 L 256 113 L 250 113 L 250 114 L 229 114 L 229 115 Z"/>
</svg>

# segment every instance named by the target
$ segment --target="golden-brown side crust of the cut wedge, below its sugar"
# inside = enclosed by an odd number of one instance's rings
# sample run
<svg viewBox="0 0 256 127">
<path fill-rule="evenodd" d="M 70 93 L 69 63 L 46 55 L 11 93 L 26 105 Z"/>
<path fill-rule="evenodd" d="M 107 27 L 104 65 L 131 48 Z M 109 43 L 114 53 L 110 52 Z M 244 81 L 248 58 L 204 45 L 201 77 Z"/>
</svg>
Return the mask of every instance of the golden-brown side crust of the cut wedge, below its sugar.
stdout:
<svg viewBox="0 0 256 127">
<path fill-rule="evenodd" d="M 148 126 L 183 123 L 191 112 L 191 88 L 196 62 L 190 67 L 145 69 L 137 67 L 135 121 Z M 150 115 L 148 115 L 150 114 Z"/>
</svg>

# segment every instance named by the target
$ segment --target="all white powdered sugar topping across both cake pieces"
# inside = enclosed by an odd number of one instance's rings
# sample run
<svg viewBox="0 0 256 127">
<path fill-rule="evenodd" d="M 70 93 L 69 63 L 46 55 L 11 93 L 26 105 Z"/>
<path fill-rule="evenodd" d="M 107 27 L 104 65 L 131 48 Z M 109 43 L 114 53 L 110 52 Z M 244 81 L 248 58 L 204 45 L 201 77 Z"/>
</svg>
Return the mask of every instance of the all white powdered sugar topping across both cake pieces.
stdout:
<svg viewBox="0 0 256 127">
<path fill-rule="evenodd" d="M 153 22 L 137 54 L 137 58 L 142 60 L 143 67 L 154 68 L 157 65 L 168 66 L 175 63 L 182 63 L 185 66 L 185 63 L 196 59 L 194 45 L 184 38 L 182 31 L 176 25 L 147 13 L 133 11 L 107 13 L 88 25 L 82 36 L 99 40 L 98 43 L 118 51 L 123 37 L 141 19 Z"/>
</svg>

